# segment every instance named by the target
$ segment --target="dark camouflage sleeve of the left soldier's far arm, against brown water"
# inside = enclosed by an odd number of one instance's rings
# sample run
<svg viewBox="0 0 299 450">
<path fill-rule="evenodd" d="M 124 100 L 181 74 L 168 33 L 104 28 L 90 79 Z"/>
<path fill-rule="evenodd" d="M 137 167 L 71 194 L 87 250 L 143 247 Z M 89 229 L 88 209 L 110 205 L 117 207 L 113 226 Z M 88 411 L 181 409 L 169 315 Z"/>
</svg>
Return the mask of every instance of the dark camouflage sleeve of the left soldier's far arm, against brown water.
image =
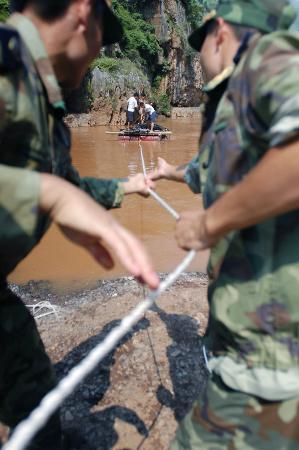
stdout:
<svg viewBox="0 0 299 450">
<path fill-rule="evenodd" d="M 104 208 L 119 208 L 124 198 L 124 190 L 117 178 L 102 179 L 93 177 L 80 177 L 77 170 L 70 165 L 68 181 L 76 184 L 83 189 L 96 202 L 100 203 Z"/>
</svg>

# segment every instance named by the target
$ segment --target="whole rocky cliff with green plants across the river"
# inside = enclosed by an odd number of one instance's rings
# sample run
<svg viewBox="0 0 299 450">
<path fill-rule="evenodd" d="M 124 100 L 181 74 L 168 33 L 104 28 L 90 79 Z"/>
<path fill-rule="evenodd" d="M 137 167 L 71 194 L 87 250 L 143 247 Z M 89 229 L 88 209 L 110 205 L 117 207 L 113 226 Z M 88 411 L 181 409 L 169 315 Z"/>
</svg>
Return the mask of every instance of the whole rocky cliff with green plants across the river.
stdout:
<svg viewBox="0 0 299 450">
<path fill-rule="evenodd" d="M 70 98 L 74 113 L 87 112 L 88 124 L 125 121 L 126 99 L 135 90 L 153 99 L 162 114 L 171 106 L 195 107 L 202 99 L 199 54 L 188 35 L 204 7 L 198 0 L 114 0 L 125 36 L 106 48 Z"/>
</svg>

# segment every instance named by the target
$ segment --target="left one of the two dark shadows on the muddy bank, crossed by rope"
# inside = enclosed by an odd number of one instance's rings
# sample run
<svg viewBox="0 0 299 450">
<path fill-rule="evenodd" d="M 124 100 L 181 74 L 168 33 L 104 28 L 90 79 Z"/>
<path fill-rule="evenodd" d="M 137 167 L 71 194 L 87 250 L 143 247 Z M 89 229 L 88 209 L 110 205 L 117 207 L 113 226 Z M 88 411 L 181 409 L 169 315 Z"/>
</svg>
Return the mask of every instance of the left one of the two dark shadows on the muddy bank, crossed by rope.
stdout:
<svg viewBox="0 0 299 450">
<path fill-rule="evenodd" d="M 59 379 L 66 376 L 70 369 L 77 364 L 101 341 L 107 334 L 119 325 L 119 320 L 114 320 L 107 324 L 96 336 L 82 342 L 74 348 L 66 357 L 56 364 L 55 370 Z M 80 384 L 78 389 L 64 402 L 62 408 L 63 428 L 75 429 L 76 437 L 72 444 L 72 449 L 76 449 L 76 439 L 85 440 L 84 444 L 79 444 L 78 450 L 109 450 L 116 444 L 118 434 L 114 425 L 116 419 L 127 422 L 137 429 L 141 436 L 146 437 L 148 430 L 138 415 L 131 409 L 113 405 L 99 412 L 92 412 L 93 406 L 97 405 L 110 386 L 110 370 L 115 363 L 115 352 L 118 347 L 129 341 L 134 333 L 145 330 L 150 323 L 147 319 L 142 319 L 111 351 L 105 359 L 94 369 L 94 371 Z M 79 435 L 80 434 L 80 435 Z"/>
</svg>

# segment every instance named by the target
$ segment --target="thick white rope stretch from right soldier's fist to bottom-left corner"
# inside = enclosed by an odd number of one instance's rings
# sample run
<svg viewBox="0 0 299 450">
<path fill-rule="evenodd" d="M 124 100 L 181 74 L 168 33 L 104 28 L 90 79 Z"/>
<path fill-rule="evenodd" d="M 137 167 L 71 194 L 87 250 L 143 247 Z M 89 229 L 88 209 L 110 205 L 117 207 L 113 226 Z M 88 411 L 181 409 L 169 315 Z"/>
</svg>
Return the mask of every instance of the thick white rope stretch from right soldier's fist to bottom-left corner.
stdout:
<svg viewBox="0 0 299 450">
<path fill-rule="evenodd" d="M 187 269 L 195 256 L 195 251 L 188 253 L 183 262 L 168 277 L 160 283 L 156 291 L 151 292 L 147 299 L 140 303 L 130 315 L 122 319 L 103 342 L 98 344 L 83 360 L 74 367 L 69 374 L 50 391 L 40 405 L 21 422 L 15 429 L 11 439 L 4 445 L 3 450 L 22 450 L 35 434 L 47 423 L 49 417 L 57 410 L 61 403 L 74 391 L 78 384 L 99 364 L 100 361 L 118 344 L 163 294 Z"/>
</svg>

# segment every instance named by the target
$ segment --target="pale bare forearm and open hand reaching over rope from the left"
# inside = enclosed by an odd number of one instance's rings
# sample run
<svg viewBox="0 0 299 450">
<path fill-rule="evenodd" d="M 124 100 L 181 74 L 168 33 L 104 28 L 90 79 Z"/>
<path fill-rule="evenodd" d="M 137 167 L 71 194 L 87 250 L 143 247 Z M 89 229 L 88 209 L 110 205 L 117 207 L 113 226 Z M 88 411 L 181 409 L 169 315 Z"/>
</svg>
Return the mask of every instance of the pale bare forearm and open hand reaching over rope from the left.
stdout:
<svg viewBox="0 0 299 450">
<path fill-rule="evenodd" d="M 141 242 L 88 195 L 53 175 L 41 175 L 39 207 L 64 235 L 81 245 L 105 268 L 115 255 L 134 276 L 154 289 L 159 279 Z"/>
</svg>

